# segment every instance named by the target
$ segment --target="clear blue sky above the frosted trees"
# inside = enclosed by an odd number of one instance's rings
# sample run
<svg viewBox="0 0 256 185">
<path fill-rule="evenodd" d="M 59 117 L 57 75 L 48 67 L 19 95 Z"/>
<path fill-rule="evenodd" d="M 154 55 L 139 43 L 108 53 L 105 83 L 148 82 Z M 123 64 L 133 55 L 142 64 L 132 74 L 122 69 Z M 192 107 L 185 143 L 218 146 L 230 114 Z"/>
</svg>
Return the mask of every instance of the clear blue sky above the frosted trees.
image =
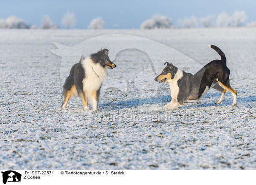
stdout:
<svg viewBox="0 0 256 185">
<path fill-rule="evenodd" d="M 140 24 L 153 14 L 171 17 L 174 23 L 179 18 L 194 15 L 217 15 L 225 11 L 232 15 L 235 10 L 245 11 L 246 22 L 256 21 L 254 0 L 8 0 L 0 3 L 0 18 L 15 15 L 30 25 L 40 26 L 42 16 L 47 14 L 53 23 L 61 26 L 61 18 L 67 10 L 75 13 L 75 28 L 87 28 L 95 17 L 102 17 L 104 28 L 140 28 Z"/>
</svg>

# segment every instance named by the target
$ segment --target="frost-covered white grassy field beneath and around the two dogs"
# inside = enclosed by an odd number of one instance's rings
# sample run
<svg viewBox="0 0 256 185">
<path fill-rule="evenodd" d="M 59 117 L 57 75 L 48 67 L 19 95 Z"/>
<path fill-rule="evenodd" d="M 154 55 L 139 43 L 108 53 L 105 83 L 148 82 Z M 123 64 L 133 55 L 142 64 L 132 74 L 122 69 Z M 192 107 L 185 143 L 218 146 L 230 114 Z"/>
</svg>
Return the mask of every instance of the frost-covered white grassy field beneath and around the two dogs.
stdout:
<svg viewBox="0 0 256 185">
<path fill-rule="evenodd" d="M 102 34 L 131 34 L 164 43 L 172 51 L 143 45 L 111 58 L 99 112 L 84 111 L 79 98 L 61 110 L 61 85 L 80 56 L 61 57 L 48 48 Z M 102 47 L 105 40 L 95 44 Z M 123 43 L 127 42 L 124 40 Z M 134 42 L 134 40 L 133 40 Z M 122 43 L 122 42 L 121 42 Z M 188 72 L 227 57 L 237 106 L 211 89 L 176 110 L 168 85 L 154 82 L 167 60 Z M 93 47 L 93 44 L 91 45 Z M 75 46 L 74 46 L 75 47 Z M 256 169 L 256 29 L 0 30 L 1 169 Z M 152 53 L 151 53 L 152 52 Z M 110 51 L 111 53 L 111 51 Z M 59 70 L 61 69 L 61 70 Z M 120 83 L 122 82 L 122 83 Z M 122 91 L 121 91 L 121 90 Z"/>
</svg>

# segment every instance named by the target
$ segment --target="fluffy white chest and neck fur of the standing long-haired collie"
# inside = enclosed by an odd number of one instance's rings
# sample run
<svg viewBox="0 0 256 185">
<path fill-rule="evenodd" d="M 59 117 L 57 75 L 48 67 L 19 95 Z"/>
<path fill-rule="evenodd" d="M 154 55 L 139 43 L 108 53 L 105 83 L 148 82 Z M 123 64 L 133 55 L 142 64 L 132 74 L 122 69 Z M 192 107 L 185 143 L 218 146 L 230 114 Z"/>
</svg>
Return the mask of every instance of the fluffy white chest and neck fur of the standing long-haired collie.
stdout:
<svg viewBox="0 0 256 185">
<path fill-rule="evenodd" d="M 107 69 L 99 63 L 93 63 L 90 57 L 82 61 L 82 66 L 85 71 L 85 78 L 83 80 L 84 92 L 97 91 L 107 75 Z"/>
</svg>

